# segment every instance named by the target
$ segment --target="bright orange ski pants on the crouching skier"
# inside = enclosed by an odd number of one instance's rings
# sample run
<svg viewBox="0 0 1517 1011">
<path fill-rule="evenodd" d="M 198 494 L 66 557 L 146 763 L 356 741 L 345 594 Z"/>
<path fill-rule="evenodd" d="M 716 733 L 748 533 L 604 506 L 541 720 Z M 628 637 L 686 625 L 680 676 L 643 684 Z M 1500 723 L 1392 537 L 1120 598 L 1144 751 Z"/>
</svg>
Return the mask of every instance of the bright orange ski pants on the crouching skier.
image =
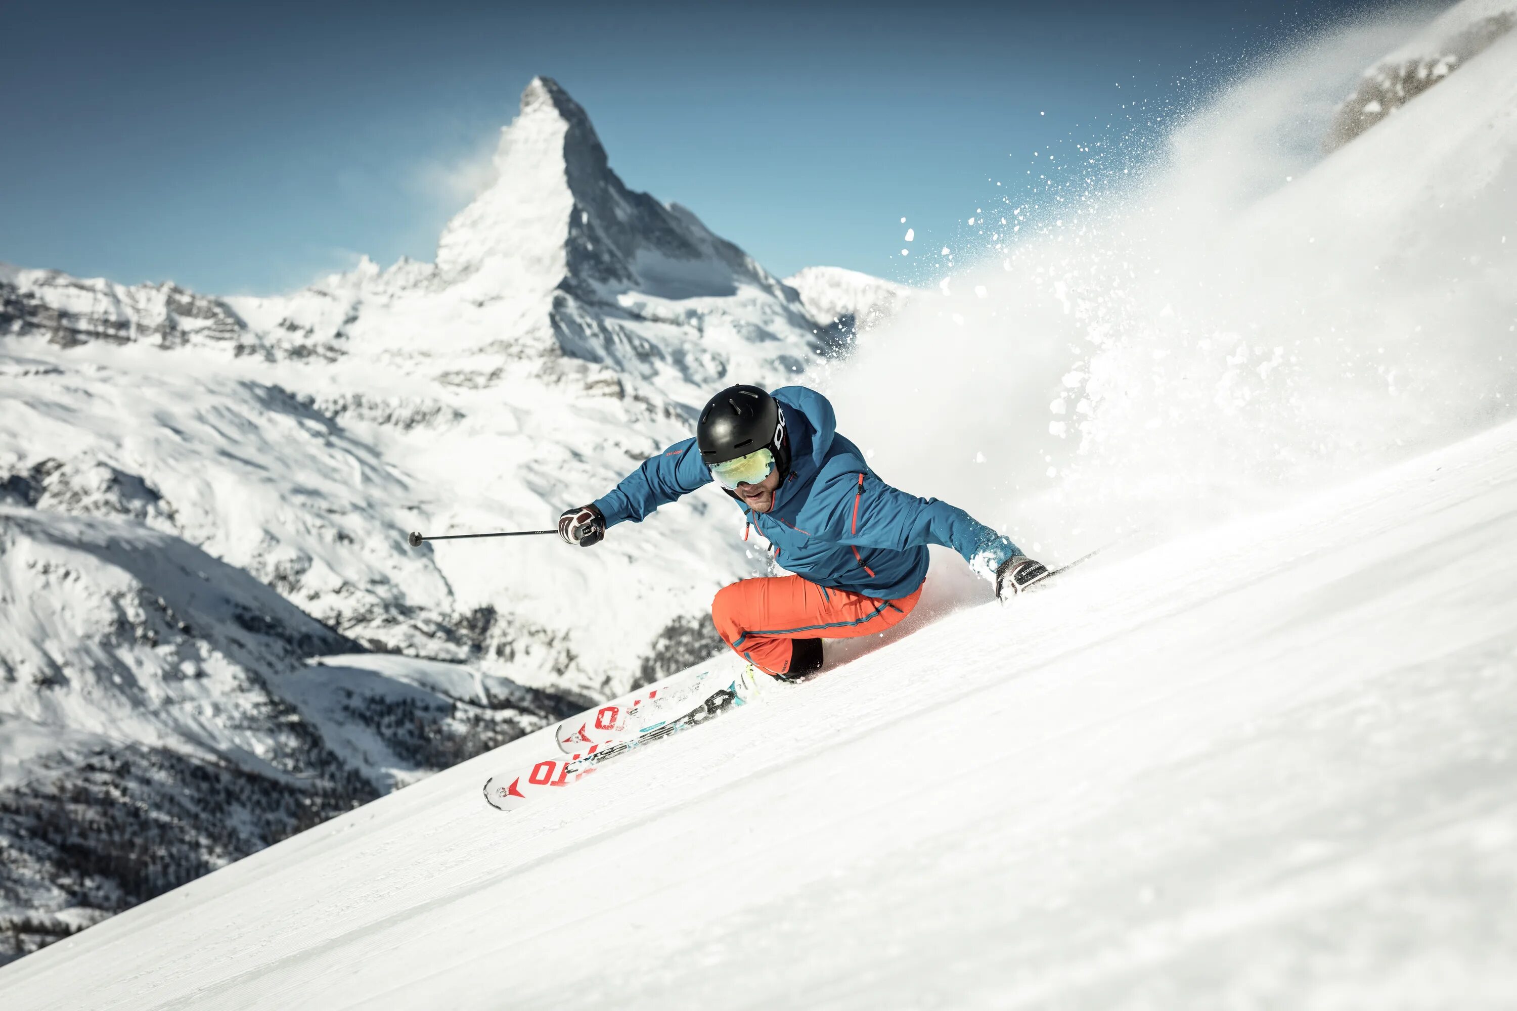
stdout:
<svg viewBox="0 0 1517 1011">
<path fill-rule="evenodd" d="M 883 632 L 910 614 L 921 596 L 921 587 L 909 597 L 880 600 L 799 576 L 743 579 L 716 593 L 711 621 L 722 641 L 748 662 L 784 675 L 790 670 L 790 640 Z"/>
</svg>

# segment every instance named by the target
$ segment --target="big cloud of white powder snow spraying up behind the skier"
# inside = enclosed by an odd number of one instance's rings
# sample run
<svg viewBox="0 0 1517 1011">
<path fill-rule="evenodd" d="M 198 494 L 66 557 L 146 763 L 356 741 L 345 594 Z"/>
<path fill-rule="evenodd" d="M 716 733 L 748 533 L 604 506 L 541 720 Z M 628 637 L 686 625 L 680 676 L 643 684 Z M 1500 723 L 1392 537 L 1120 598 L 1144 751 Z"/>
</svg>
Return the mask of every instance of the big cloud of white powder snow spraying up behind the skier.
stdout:
<svg viewBox="0 0 1517 1011">
<path fill-rule="evenodd" d="M 843 430 L 1056 562 L 1511 417 L 1517 32 L 1329 153 L 1364 68 L 1415 30 L 1323 32 L 1145 109 L 1162 144 L 1039 150 L 1036 196 L 981 203 L 977 246 L 942 258 L 971 265 L 833 374 Z"/>
</svg>

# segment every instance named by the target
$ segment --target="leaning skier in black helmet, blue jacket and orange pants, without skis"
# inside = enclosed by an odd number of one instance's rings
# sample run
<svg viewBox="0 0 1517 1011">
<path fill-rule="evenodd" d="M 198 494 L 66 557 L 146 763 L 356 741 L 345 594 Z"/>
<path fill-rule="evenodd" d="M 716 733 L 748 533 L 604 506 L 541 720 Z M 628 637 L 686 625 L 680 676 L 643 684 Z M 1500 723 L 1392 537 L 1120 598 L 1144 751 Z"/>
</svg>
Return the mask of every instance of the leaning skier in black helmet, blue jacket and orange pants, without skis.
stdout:
<svg viewBox="0 0 1517 1011">
<path fill-rule="evenodd" d="M 718 480 L 795 573 L 742 579 L 718 591 L 711 620 L 751 665 L 793 679 L 822 665 L 822 638 L 883 632 L 922 596 L 927 544 L 953 547 L 995 584 L 1019 593 L 1048 570 L 963 509 L 880 480 L 837 434 L 833 405 L 806 387 L 772 394 L 737 385 L 701 411 L 695 438 L 643 461 L 610 494 L 566 509 L 558 535 L 599 544 L 610 526 Z"/>
</svg>

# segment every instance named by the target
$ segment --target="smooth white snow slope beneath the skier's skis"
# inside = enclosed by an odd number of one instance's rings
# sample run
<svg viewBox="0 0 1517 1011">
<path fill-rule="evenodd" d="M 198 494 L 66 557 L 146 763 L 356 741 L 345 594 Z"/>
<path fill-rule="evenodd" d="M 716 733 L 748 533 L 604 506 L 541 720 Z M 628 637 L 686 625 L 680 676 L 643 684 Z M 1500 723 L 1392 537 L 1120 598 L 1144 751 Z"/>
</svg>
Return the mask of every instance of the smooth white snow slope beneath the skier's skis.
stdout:
<svg viewBox="0 0 1517 1011">
<path fill-rule="evenodd" d="M 554 749 L 522 738 L 0 969 L 0 991 L 1509 1008 L 1514 543 L 1506 424 L 1118 546 L 502 814 L 484 779 Z"/>
</svg>

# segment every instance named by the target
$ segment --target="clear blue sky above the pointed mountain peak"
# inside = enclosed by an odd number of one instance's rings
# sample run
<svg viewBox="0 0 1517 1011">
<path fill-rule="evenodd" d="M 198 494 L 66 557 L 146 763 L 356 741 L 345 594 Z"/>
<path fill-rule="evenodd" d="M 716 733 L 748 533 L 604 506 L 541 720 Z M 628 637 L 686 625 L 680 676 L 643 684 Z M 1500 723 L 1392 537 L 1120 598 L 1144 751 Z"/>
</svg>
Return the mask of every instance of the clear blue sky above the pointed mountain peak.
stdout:
<svg viewBox="0 0 1517 1011">
<path fill-rule="evenodd" d="M 1033 149 L 1365 6 L 11 5 L 0 261 L 237 294 L 431 259 L 548 74 L 630 186 L 772 271 L 910 280 L 900 218 L 948 236 Z"/>
</svg>

